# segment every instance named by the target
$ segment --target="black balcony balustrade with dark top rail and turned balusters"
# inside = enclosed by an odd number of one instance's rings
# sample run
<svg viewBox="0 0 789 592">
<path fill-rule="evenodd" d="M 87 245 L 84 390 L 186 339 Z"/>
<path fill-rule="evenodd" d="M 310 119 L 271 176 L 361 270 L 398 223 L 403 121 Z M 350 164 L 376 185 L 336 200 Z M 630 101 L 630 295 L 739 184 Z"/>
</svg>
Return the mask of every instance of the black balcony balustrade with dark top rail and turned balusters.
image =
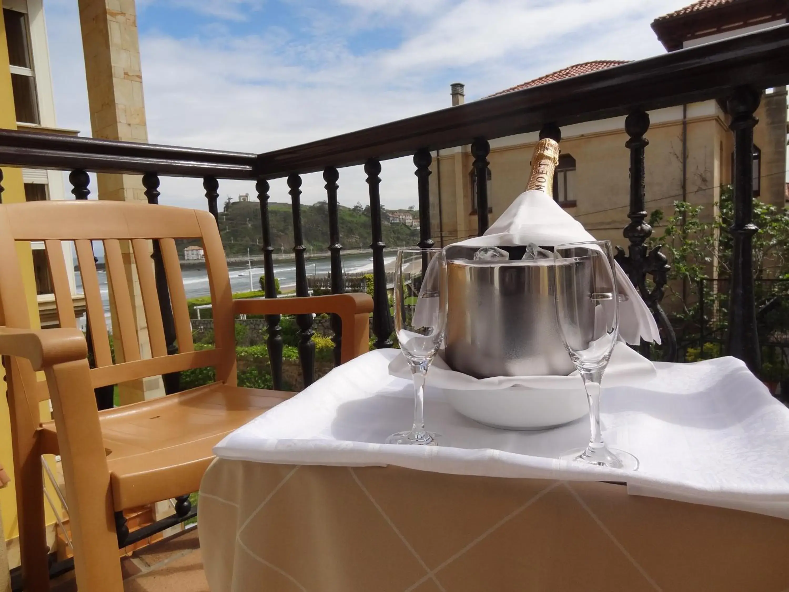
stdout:
<svg viewBox="0 0 789 592">
<path fill-rule="evenodd" d="M 69 179 L 77 199 L 87 199 L 88 171 L 143 175 L 149 203 L 159 201 L 162 175 L 200 178 L 208 210 L 218 217 L 219 181 L 248 179 L 256 182 L 260 200 L 263 239 L 265 296 L 276 298 L 273 247 L 268 213 L 269 181 L 287 178 L 294 223 L 297 294 L 308 294 L 304 245 L 301 238 L 301 176 L 322 171 L 328 201 L 328 238 L 331 252 L 331 291 L 342 285 L 342 237 L 338 224 L 339 168 L 363 164 L 367 174 L 373 252 L 373 298 L 375 308 L 372 332 L 376 347 L 391 347 L 392 320 L 387 302 L 386 271 L 383 264 L 381 232 L 380 177 L 383 159 L 413 156 L 419 201 L 420 241 L 433 245 L 430 236 L 429 176 L 431 152 L 470 144 L 477 179 L 486 178 L 489 141 L 540 130 L 540 137 L 561 139 L 560 126 L 626 115 L 625 129 L 630 137 L 630 212 L 624 237 L 627 252 L 619 249 L 617 260 L 653 310 L 664 337 L 664 358 L 674 359 L 676 343 L 671 324 L 660 308 L 667 283 L 667 261 L 660 248 L 648 250 L 646 240 L 652 233 L 646 223 L 644 175 L 645 149 L 649 141 L 647 111 L 701 100 L 718 99 L 727 104 L 731 130 L 735 134 L 735 220 L 731 227 L 735 242 L 735 264 L 731 281 L 731 319 L 727 337 L 729 353 L 745 360 L 751 369 L 759 367 L 759 347 L 753 309 L 751 279 L 751 238 L 756 228 L 751 222 L 750 195 L 753 170 L 750 154 L 753 126 L 761 90 L 789 83 L 789 24 L 762 32 L 725 39 L 655 58 L 630 62 L 583 76 L 526 88 L 501 96 L 481 99 L 441 111 L 398 122 L 362 129 L 293 148 L 264 154 L 221 152 L 153 144 L 92 140 L 47 133 L 0 130 L 0 163 L 43 169 L 70 170 Z M 626 153 L 623 149 L 623 158 Z M 524 163 L 524 167 L 526 163 Z M 488 188 L 475 184 L 478 232 L 488 227 Z M 2 197 L 2 187 L 0 187 Z M 163 279 L 163 264 L 158 245 L 153 260 L 163 311 L 168 353 L 176 353 L 170 298 Z M 312 319 L 297 319 L 298 351 L 305 384 L 313 378 L 314 344 Z M 338 360 L 342 327 L 332 320 L 335 332 L 335 359 Z M 90 328 L 88 327 L 88 330 Z M 267 347 L 275 388 L 282 388 L 282 335 L 279 316 L 267 317 Z M 644 350 L 648 346 L 643 345 Z M 177 392 L 178 376 L 164 377 L 166 392 Z M 107 392 L 97 392 L 106 407 Z"/>
</svg>

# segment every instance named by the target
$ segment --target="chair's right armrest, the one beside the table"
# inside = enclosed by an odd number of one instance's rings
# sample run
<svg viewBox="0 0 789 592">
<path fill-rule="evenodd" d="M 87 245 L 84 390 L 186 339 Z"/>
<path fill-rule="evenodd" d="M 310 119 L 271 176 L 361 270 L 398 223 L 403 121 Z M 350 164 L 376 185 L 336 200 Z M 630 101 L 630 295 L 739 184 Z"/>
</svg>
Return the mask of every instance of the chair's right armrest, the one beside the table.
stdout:
<svg viewBox="0 0 789 592">
<path fill-rule="evenodd" d="M 343 364 L 369 349 L 372 298 L 368 294 L 331 294 L 302 298 L 249 298 L 233 301 L 238 314 L 312 314 L 334 313 L 342 320 Z"/>
</svg>

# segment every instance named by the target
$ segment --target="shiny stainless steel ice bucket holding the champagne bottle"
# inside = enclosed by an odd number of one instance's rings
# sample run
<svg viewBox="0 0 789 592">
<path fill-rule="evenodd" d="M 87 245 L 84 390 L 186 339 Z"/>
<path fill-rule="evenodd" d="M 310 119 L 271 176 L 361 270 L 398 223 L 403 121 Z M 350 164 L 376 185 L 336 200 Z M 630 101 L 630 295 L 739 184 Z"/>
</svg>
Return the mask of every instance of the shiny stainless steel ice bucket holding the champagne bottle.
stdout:
<svg viewBox="0 0 789 592">
<path fill-rule="evenodd" d="M 553 264 L 447 262 L 446 359 L 452 369 L 478 378 L 567 376 L 574 370 L 556 324 Z"/>
</svg>

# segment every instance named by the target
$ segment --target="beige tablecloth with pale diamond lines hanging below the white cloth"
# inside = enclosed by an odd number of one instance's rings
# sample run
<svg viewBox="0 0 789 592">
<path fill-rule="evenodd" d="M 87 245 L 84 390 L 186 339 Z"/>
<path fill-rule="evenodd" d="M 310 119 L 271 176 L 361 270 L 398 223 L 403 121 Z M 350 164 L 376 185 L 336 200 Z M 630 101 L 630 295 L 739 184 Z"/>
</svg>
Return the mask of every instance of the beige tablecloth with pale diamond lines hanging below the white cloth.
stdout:
<svg viewBox="0 0 789 592">
<path fill-rule="evenodd" d="M 787 592 L 789 520 L 622 485 L 217 459 L 213 592 Z"/>
</svg>

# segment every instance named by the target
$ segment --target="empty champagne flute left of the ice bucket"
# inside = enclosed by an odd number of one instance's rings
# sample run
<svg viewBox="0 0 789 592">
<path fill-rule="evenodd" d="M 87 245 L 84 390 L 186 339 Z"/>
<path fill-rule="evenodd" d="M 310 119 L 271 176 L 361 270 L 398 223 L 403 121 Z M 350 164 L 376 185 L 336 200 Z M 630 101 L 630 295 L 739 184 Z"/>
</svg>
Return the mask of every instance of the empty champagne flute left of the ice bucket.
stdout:
<svg viewBox="0 0 789 592">
<path fill-rule="evenodd" d="M 424 428 L 424 380 L 447 324 L 447 259 L 442 249 L 398 249 L 394 264 L 394 332 L 413 376 L 413 426 L 386 444 L 436 446 Z"/>
</svg>

